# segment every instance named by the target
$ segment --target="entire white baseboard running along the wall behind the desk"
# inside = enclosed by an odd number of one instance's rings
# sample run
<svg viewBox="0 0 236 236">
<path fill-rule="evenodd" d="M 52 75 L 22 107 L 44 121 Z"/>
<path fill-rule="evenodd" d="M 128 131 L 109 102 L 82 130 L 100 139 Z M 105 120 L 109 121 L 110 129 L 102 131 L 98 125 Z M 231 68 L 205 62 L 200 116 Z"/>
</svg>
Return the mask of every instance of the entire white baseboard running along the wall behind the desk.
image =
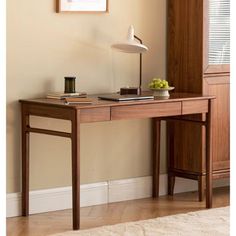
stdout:
<svg viewBox="0 0 236 236">
<path fill-rule="evenodd" d="M 214 181 L 214 187 L 229 185 L 228 179 Z M 81 207 L 120 202 L 152 195 L 152 177 L 114 180 L 81 185 Z M 175 193 L 197 190 L 197 181 L 176 178 Z M 160 176 L 160 195 L 167 194 L 167 175 Z M 30 214 L 72 208 L 72 188 L 56 188 L 30 192 Z M 21 194 L 7 194 L 7 217 L 21 215 Z"/>
</svg>

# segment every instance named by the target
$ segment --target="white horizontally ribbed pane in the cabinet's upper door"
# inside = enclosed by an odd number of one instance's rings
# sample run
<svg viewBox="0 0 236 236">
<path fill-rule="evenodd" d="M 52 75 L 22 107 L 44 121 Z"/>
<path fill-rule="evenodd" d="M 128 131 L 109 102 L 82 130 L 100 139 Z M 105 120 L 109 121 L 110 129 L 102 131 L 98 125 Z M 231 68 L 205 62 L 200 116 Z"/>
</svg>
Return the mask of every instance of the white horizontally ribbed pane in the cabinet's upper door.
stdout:
<svg viewBox="0 0 236 236">
<path fill-rule="evenodd" d="M 209 0 L 209 64 L 230 63 L 230 0 Z"/>
</svg>

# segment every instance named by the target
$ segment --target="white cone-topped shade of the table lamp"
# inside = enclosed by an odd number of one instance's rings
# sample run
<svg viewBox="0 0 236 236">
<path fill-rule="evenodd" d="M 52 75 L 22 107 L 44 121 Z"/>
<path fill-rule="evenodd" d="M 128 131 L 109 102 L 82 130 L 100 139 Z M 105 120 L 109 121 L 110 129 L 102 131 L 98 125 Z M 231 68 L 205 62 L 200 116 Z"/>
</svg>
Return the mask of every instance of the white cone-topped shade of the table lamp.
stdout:
<svg viewBox="0 0 236 236">
<path fill-rule="evenodd" d="M 129 27 L 126 41 L 113 44 L 111 47 L 120 52 L 126 52 L 126 53 L 144 53 L 148 50 L 147 46 L 135 40 L 133 26 Z"/>
</svg>

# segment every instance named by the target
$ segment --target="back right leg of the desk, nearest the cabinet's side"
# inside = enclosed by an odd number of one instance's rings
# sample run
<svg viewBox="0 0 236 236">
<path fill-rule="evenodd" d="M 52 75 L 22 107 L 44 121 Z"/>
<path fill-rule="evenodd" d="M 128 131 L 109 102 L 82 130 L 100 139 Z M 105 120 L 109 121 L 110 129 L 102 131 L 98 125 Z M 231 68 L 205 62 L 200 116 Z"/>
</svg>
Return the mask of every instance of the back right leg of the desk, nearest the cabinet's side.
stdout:
<svg viewBox="0 0 236 236">
<path fill-rule="evenodd" d="M 161 120 L 153 118 L 153 180 L 152 196 L 159 197 L 159 177 L 160 177 L 160 137 Z"/>
</svg>

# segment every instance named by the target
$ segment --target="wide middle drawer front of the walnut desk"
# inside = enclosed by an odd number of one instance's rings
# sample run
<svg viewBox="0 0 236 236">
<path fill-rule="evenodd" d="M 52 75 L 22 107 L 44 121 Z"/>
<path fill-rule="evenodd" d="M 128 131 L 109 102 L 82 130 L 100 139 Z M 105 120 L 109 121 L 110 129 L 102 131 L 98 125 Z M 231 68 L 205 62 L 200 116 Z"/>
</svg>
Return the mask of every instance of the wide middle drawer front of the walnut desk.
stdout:
<svg viewBox="0 0 236 236">
<path fill-rule="evenodd" d="M 111 119 L 138 119 L 181 114 L 181 102 L 118 106 L 111 108 Z"/>
</svg>

